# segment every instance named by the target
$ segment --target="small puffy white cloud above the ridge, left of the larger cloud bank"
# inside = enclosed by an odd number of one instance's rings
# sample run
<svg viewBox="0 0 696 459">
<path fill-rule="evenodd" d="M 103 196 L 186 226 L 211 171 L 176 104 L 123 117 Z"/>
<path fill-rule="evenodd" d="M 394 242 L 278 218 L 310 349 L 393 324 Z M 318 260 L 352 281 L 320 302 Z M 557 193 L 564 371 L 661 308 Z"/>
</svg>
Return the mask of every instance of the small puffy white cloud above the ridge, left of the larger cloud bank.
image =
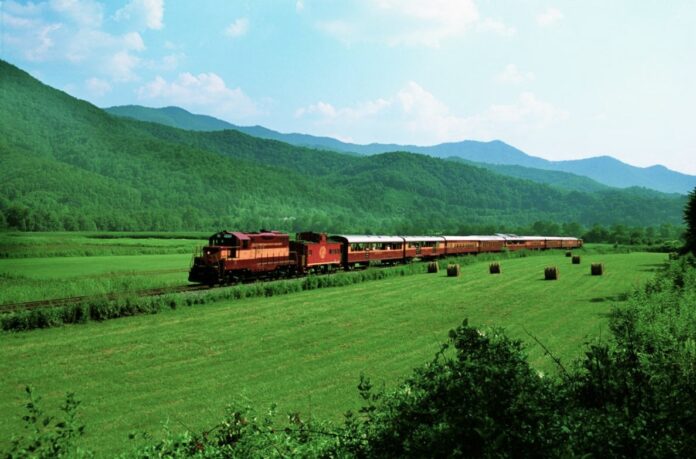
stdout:
<svg viewBox="0 0 696 459">
<path fill-rule="evenodd" d="M 163 105 L 178 105 L 231 121 L 260 113 L 257 104 L 240 88 L 229 88 L 215 73 L 181 73 L 168 82 L 156 77 L 138 89 L 138 98 Z"/>
</svg>

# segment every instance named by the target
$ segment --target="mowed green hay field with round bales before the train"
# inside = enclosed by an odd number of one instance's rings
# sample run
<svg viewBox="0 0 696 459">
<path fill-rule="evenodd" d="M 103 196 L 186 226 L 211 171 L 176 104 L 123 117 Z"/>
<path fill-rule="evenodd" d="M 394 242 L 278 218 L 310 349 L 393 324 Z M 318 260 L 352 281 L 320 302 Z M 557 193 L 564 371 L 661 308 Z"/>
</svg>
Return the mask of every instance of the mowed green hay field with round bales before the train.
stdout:
<svg viewBox="0 0 696 459">
<path fill-rule="evenodd" d="M 85 446 L 109 456 L 128 446 L 131 431 L 212 427 L 225 404 L 260 411 L 300 411 L 340 419 L 359 406 L 364 373 L 392 386 L 430 360 L 447 332 L 464 318 L 500 326 L 528 345 L 530 362 L 553 363 L 524 331 L 565 363 L 583 343 L 607 336 L 611 304 L 652 276 L 664 254 L 582 254 L 571 265 L 560 252 L 487 263 L 462 276 L 422 274 L 349 287 L 181 308 L 153 316 L 5 333 L 0 336 L 0 438 L 19 432 L 23 387 L 45 404 L 64 394 L 83 401 Z M 606 274 L 589 275 L 604 262 Z M 543 269 L 560 268 L 558 281 Z"/>
</svg>

